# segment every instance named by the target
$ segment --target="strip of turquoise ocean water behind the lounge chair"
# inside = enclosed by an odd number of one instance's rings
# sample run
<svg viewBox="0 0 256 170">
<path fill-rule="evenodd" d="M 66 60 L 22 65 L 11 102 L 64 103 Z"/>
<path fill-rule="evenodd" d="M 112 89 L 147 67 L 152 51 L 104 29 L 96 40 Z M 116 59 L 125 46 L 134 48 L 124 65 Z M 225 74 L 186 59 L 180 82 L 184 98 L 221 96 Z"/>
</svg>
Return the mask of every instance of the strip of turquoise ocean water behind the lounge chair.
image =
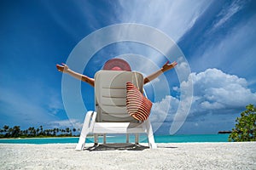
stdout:
<svg viewBox="0 0 256 170">
<path fill-rule="evenodd" d="M 190 135 L 154 135 L 156 143 L 188 143 L 188 142 L 228 142 L 229 134 L 190 134 Z M 126 136 L 107 136 L 107 143 L 125 143 Z M 130 136 L 130 142 L 134 143 L 135 136 Z M 32 138 L 32 139 L 0 139 L 0 144 L 69 144 L 78 143 L 79 138 Z M 86 143 L 93 143 L 93 137 L 88 137 Z M 99 143 L 103 138 L 99 137 Z M 140 143 L 147 143 L 146 136 L 140 136 Z"/>
</svg>

